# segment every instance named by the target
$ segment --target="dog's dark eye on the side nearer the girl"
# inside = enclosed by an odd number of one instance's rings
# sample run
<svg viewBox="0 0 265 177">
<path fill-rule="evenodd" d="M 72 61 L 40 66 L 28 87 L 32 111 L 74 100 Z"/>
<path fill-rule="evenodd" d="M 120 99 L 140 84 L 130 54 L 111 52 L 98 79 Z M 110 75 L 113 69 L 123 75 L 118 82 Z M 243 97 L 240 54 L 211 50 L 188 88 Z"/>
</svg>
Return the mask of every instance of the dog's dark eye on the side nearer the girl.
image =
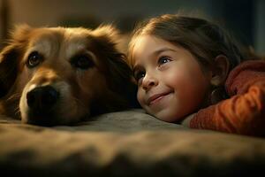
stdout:
<svg viewBox="0 0 265 177">
<path fill-rule="evenodd" d="M 94 65 L 92 58 L 86 55 L 80 55 L 72 58 L 71 65 L 79 69 L 88 69 Z"/>
</svg>

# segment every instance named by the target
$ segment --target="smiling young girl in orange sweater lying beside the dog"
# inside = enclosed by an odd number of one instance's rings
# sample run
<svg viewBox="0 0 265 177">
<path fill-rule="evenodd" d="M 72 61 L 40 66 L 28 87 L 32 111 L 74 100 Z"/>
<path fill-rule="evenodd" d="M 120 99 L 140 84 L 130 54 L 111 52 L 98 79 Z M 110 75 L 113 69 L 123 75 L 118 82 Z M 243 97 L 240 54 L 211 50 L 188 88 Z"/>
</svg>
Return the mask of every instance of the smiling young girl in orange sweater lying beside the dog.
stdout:
<svg viewBox="0 0 265 177">
<path fill-rule="evenodd" d="M 137 99 L 157 119 L 263 136 L 265 62 L 248 54 L 205 19 L 166 14 L 135 30 L 128 59 Z"/>
</svg>

